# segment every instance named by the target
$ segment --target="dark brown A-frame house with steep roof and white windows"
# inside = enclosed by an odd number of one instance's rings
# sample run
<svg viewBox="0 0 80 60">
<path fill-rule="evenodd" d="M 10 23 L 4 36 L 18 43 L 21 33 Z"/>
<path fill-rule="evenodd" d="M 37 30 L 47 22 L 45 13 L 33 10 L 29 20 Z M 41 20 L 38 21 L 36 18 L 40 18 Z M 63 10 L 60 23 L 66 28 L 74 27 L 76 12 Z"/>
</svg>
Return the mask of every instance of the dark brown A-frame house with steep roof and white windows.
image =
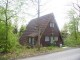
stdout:
<svg viewBox="0 0 80 60">
<path fill-rule="evenodd" d="M 63 40 L 55 21 L 53 13 L 41 16 L 39 19 L 35 18 L 29 22 L 27 29 L 20 37 L 20 44 L 34 46 L 38 41 L 38 25 L 40 27 L 42 46 L 63 44 Z"/>
</svg>

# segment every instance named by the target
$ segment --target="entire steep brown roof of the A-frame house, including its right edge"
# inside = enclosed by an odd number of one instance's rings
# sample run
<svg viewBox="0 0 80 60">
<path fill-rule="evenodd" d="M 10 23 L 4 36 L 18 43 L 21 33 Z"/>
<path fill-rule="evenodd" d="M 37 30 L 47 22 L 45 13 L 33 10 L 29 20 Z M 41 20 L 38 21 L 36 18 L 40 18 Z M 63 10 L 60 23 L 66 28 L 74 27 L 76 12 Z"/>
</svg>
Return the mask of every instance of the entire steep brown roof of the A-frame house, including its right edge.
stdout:
<svg viewBox="0 0 80 60">
<path fill-rule="evenodd" d="M 21 36 L 20 42 L 24 43 L 26 41 L 27 36 L 31 36 L 31 37 L 38 36 L 38 30 L 37 30 L 38 24 L 40 26 L 41 32 L 43 33 L 50 22 L 54 22 L 54 24 L 55 24 L 54 32 L 56 32 L 56 34 L 60 35 L 60 31 L 59 31 L 59 28 L 55 21 L 54 15 L 53 15 L 53 13 L 50 13 L 50 14 L 41 16 L 39 18 L 39 20 L 38 20 L 38 18 L 32 19 L 29 22 L 29 24 L 27 25 L 27 30 L 25 30 L 25 32 Z M 61 37 L 61 35 L 60 35 L 60 37 Z"/>
</svg>

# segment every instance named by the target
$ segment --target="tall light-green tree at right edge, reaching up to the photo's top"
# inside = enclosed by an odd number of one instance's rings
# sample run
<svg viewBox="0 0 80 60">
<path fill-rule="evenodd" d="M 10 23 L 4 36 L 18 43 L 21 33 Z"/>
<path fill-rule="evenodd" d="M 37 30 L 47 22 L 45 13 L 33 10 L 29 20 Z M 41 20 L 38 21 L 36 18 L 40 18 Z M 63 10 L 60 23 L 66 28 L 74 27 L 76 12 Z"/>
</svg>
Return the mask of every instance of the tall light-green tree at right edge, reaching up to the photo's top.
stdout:
<svg viewBox="0 0 80 60">
<path fill-rule="evenodd" d="M 69 35 L 66 38 L 65 43 L 67 45 L 80 45 L 80 32 L 79 32 L 79 27 L 80 27 L 80 5 L 79 5 L 79 0 L 77 0 L 76 3 L 72 3 L 72 10 L 69 11 L 69 23 L 68 23 L 68 31 Z"/>
</svg>

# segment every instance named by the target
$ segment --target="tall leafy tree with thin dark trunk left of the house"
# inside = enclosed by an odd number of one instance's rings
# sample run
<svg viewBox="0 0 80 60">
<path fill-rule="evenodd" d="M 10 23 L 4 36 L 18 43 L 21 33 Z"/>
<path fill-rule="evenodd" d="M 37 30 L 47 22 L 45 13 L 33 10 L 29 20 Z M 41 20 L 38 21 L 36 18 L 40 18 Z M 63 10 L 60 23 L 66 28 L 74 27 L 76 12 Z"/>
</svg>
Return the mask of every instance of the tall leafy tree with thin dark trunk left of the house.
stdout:
<svg viewBox="0 0 80 60">
<path fill-rule="evenodd" d="M 18 1 L 18 0 L 15 0 Z M 0 52 L 9 52 L 15 45 L 16 36 L 12 33 L 11 18 L 17 15 L 16 9 L 12 9 L 13 0 L 0 1 Z M 22 0 L 20 0 L 22 1 Z M 19 5 L 20 7 L 21 5 Z M 19 12 L 19 11 L 18 11 Z M 15 39 L 16 38 L 16 39 Z M 13 43 L 14 42 L 14 43 Z M 17 41 L 16 41 L 17 42 Z M 16 47 L 16 46 L 15 46 Z"/>
</svg>

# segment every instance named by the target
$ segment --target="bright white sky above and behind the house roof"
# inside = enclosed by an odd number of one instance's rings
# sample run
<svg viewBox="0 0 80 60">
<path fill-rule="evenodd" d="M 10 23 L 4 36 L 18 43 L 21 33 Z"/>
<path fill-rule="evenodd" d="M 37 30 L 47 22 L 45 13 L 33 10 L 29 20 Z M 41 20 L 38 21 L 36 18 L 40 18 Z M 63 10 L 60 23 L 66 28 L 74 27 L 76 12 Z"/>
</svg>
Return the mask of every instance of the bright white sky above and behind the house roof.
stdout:
<svg viewBox="0 0 80 60">
<path fill-rule="evenodd" d="M 59 29 L 61 30 L 64 24 L 69 21 L 69 19 L 67 18 L 67 13 L 72 8 L 73 2 L 76 2 L 76 0 L 41 0 L 40 16 L 53 13 Z M 24 19 L 26 18 L 26 21 L 20 24 L 26 25 L 30 22 L 31 19 L 37 17 L 37 11 L 36 5 L 33 5 L 32 2 L 30 2 L 28 9 L 26 5 L 24 5 L 23 7 L 24 8 L 22 9 L 22 11 L 24 11 L 24 13 L 20 14 L 19 16 L 22 18 L 24 17 Z"/>
</svg>

